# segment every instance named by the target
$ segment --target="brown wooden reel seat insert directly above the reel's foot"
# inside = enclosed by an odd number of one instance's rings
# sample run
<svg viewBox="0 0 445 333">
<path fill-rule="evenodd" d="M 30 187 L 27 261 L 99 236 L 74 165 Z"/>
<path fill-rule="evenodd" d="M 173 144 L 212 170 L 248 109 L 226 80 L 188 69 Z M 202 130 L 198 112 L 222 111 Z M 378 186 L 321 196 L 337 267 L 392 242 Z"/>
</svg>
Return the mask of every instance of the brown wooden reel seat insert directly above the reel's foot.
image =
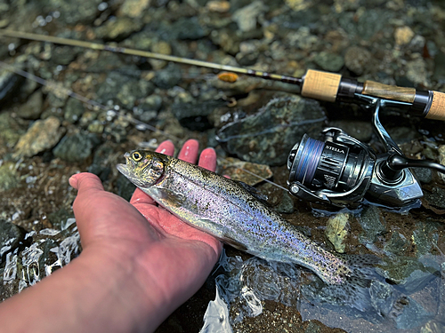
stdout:
<svg viewBox="0 0 445 333">
<path fill-rule="evenodd" d="M 401 102 L 414 102 L 416 98 L 415 88 L 403 88 L 395 85 L 387 85 L 374 81 L 365 81 L 363 83 L 363 95 L 379 97 L 382 99 L 393 99 Z"/>
</svg>

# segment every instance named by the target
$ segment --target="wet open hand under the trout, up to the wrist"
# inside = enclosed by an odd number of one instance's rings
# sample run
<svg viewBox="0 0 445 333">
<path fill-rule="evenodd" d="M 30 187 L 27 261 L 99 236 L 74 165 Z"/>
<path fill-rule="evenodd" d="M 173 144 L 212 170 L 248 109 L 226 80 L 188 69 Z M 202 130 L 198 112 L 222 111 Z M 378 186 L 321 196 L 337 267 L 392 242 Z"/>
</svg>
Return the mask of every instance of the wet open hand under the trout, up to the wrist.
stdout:
<svg viewBox="0 0 445 333">
<path fill-rule="evenodd" d="M 173 155 L 174 145 L 165 141 L 157 151 Z M 188 140 L 178 158 L 196 163 L 198 141 Z M 214 171 L 214 150 L 205 149 L 198 164 Z M 129 203 L 104 191 L 100 179 L 90 173 L 74 175 L 69 184 L 78 190 L 73 210 L 83 253 L 132 267 L 130 274 L 142 293 L 152 303 L 158 302 L 164 317 L 204 283 L 222 250 L 221 242 L 213 236 L 158 207 L 140 189 Z"/>
</svg>

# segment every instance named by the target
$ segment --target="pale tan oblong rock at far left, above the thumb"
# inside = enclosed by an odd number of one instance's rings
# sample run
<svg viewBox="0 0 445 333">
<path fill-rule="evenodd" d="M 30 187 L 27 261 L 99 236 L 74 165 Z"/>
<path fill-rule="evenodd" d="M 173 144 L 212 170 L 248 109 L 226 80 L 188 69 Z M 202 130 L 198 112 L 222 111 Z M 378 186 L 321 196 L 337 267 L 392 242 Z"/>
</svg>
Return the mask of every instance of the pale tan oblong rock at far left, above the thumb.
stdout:
<svg viewBox="0 0 445 333">
<path fill-rule="evenodd" d="M 65 129 L 61 127 L 61 121 L 50 116 L 45 120 L 37 120 L 31 125 L 25 135 L 21 136 L 15 146 L 15 157 L 30 157 L 54 147 Z"/>
</svg>

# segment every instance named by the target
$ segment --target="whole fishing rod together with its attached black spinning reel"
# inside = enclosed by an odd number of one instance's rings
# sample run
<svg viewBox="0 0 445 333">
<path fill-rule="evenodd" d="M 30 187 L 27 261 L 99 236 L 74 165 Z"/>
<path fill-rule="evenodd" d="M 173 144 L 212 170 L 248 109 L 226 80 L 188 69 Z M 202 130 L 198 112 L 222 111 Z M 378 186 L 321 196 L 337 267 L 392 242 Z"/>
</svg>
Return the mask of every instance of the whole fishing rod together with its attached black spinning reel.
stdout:
<svg viewBox="0 0 445 333">
<path fill-rule="evenodd" d="M 0 36 L 120 52 L 262 77 L 298 85 L 303 97 L 329 102 L 337 100 L 357 102 L 369 109 L 374 109 L 372 123 L 378 138 L 384 144 L 384 153 L 376 153 L 368 145 L 335 127 L 329 127 L 322 132 L 324 141 L 311 139 L 305 134 L 300 142 L 295 144 L 287 158 L 287 169 L 289 170 L 287 185 L 290 194 L 304 201 L 325 202 L 340 207 L 357 207 L 360 202 L 368 199 L 369 202 L 385 206 L 405 207 L 418 202 L 418 199 L 423 196 L 422 188 L 413 172 L 409 170 L 410 168 L 428 168 L 445 173 L 444 165 L 413 160 L 404 156 L 401 149 L 384 130 L 378 117 L 380 109 L 398 107 L 413 115 L 445 120 L 445 94 L 439 91 L 417 91 L 414 88 L 402 88 L 374 81 L 359 83 L 356 80 L 342 78 L 342 75 L 312 69 L 308 70 L 302 78 L 275 75 L 253 69 L 218 65 L 201 60 L 184 59 L 107 44 L 3 29 L 0 29 Z M 14 71 L 18 73 L 17 70 Z M 24 75 L 23 73 L 18 74 Z M 229 80 L 223 79 L 223 81 Z M 69 91 L 69 96 L 80 99 L 72 91 Z M 263 180 L 267 181 L 267 179 Z"/>
</svg>

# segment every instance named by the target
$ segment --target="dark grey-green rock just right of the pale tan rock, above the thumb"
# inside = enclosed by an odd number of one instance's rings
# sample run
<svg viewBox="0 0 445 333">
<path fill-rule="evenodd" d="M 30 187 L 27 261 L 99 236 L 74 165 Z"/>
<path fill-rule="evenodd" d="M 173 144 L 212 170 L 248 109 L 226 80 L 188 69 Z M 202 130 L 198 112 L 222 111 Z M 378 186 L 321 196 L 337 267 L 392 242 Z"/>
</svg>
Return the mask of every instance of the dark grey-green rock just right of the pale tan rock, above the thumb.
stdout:
<svg viewBox="0 0 445 333">
<path fill-rule="evenodd" d="M 53 149 L 53 154 L 67 162 L 84 162 L 93 153 L 100 140 L 93 133 L 65 136 Z"/>
</svg>

